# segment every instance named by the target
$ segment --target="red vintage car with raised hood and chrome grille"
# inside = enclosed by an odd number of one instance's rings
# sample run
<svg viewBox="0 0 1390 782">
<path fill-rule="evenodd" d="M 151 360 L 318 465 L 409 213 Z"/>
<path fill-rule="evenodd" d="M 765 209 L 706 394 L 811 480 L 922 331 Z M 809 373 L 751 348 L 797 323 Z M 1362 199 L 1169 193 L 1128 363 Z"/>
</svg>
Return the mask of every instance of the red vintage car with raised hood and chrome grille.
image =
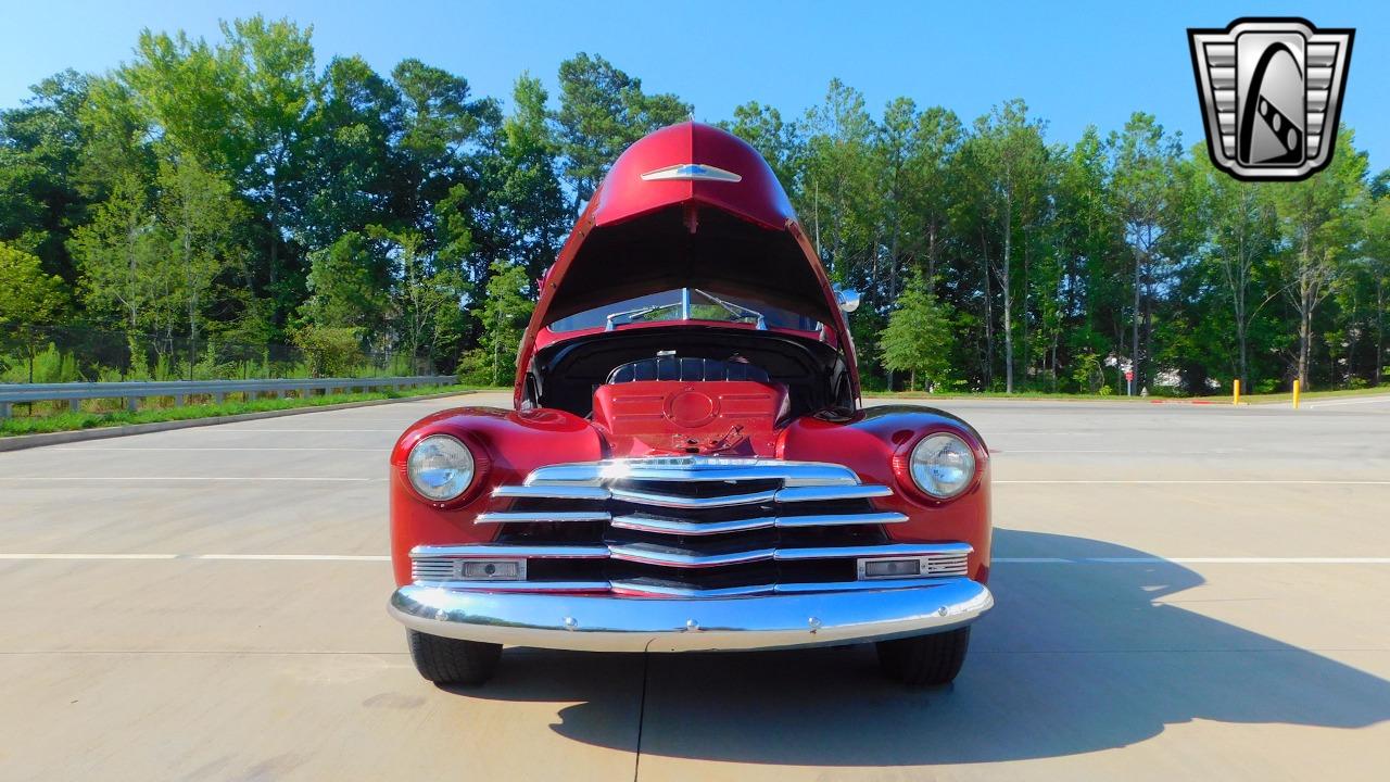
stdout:
<svg viewBox="0 0 1390 782">
<path fill-rule="evenodd" d="M 887 673 L 952 680 L 994 603 L 990 455 L 948 413 L 862 406 L 856 305 L 749 145 L 685 122 L 624 152 L 542 281 L 513 409 L 392 452 L 420 673 L 877 641 Z"/>
</svg>

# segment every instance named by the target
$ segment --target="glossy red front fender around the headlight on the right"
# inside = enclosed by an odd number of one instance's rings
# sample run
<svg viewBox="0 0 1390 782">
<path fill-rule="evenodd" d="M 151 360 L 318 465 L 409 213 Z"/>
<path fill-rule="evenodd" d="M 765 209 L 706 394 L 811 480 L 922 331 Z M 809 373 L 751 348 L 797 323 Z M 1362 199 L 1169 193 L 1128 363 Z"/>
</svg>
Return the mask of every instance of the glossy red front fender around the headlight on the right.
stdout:
<svg viewBox="0 0 1390 782">
<path fill-rule="evenodd" d="M 910 479 L 895 469 L 923 437 L 949 431 L 974 451 L 976 480 L 963 494 L 945 502 L 922 494 Z M 990 449 L 984 438 L 962 419 L 933 408 L 884 405 L 866 408 L 844 419 L 806 416 L 783 430 L 777 442 L 781 459 L 835 462 L 855 470 L 865 483 L 891 486 L 892 497 L 876 500 L 884 511 L 908 516 L 887 525 L 888 536 L 901 543 L 959 540 L 974 547 L 970 577 L 990 576 Z"/>
</svg>

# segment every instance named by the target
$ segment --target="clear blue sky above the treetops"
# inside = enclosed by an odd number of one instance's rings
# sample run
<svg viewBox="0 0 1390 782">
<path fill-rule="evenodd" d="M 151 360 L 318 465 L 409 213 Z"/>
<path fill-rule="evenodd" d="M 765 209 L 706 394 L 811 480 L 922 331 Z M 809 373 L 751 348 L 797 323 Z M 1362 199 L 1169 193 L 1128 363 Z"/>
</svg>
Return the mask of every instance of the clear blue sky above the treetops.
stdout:
<svg viewBox="0 0 1390 782">
<path fill-rule="evenodd" d="M 1023 97 L 1049 138 L 1087 124 L 1118 128 L 1134 110 L 1158 115 L 1191 145 L 1201 138 L 1184 29 L 1241 15 L 1302 15 L 1354 26 L 1343 121 L 1390 166 L 1390 4 L 1301 3 L 528 3 L 291 0 L 0 0 L 0 106 L 65 67 L 104 71 L 131 56 L 142 28 L 217 38 L 217 21 L 264 13 L 313 25 L 321 63 L 361 54 L 379 71 L 418 57 L 506 97 L 530 71 L 555 83 L 560 60 L 598 53 L 676 92 L 701 120 L 746 100 L 801 115 L 840 77 L 873 111 L 905 95 L 965 118 Z"/>
</svg>

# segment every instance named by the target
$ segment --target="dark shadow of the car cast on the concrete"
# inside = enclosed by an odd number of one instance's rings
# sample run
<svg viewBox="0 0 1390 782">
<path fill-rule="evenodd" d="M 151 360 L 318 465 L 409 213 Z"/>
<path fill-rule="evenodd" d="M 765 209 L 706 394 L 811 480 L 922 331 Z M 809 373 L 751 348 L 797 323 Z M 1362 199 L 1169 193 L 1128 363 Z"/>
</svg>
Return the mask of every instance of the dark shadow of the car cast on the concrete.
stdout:
<svg viewBox="0 0 1390 782">
<path fill-rule="evenodd" d="M 994 551 L 1151 558 L 1004 529 Z M 645 660 L 509 651 L 495 682 L 455 692 L 578 701 L 560 710 L 553 731 L 631 750 L 607 687 L 620 672 L 639 678 L 645 667 L 644 754 L 831 767 L 1069 756 L 1143 742 L 1193 719 L 1326 728 L 1390 719 L 1390 682 L 1169 603 L 1202 583 L 1166 561 L 999 565 L 991 579 L 998 607 L 976 625 L 960 678 L 935 690 L 885 680 L 873 647 L 860 644 Z M 609 675 L 595 676 L 595 667 Z"/>
</svg>

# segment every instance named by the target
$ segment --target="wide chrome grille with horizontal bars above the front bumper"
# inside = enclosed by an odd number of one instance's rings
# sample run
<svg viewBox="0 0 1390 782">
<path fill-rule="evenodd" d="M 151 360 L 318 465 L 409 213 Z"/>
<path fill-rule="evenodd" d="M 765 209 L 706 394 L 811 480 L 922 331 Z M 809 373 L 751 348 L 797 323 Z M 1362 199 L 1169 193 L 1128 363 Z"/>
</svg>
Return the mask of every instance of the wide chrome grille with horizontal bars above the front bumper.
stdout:
<svg viewBox="0 0 1390 782">
<path fill-rule="evenodd" d="M 892 495 L 845 466 L 673 456 L 553 465 L 493 491 L 484 545 L 417 547 L 417 582 L 449 587 L 728 597 L 894 589 L 962 577 L 965 543 L 895 544 Z M 521 582 L 464 582 L 464 559 L 524 558 Z M 863 579 L 863 558 L 913 558 L 919 577 Z"/>
</svg>

